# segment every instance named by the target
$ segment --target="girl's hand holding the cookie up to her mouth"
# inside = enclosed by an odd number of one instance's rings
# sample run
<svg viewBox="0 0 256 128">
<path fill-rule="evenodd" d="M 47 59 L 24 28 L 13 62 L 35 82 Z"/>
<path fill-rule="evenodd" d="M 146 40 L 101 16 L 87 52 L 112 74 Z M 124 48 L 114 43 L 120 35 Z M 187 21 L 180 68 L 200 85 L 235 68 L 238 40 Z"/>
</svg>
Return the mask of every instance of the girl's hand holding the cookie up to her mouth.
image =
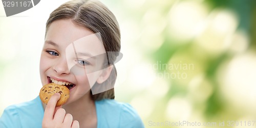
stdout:
<svg viewBox="0 0 256 128">
<path fill-rule="evenodd" d="M 67 127 L 67 128 L 77 128 L 79 127 L 79 122 L 77 120 L 73 121 L 71 114 L 66 114 L 65 109 L 60 107 L 55 107 L 57 101 L 60 98 L 59 93 L 55 93 L 46 106 L 45 115 L 42 119 L 42 127 Z"/>
</svg>

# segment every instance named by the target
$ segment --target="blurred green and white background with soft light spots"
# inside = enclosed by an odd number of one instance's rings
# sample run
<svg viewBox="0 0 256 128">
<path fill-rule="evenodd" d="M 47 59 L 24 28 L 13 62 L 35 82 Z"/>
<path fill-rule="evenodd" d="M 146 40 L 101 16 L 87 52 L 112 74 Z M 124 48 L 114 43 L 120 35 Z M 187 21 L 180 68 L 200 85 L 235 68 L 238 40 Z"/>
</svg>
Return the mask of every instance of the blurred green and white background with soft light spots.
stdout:
<svg viewBox="0 0 256 128">
<path fill-rule="evenodd" d="M 45 23 L 64 2 L 41 1 L 12 17 L 0 6 L 0 115 L 38 95 Z M 121 29 L 116 100 L 130 103 L 145 127 L 256 127 L 256 1 L 102 3 Z M 192 124 L 172 126 L 179 121 Z"/>
</svg>

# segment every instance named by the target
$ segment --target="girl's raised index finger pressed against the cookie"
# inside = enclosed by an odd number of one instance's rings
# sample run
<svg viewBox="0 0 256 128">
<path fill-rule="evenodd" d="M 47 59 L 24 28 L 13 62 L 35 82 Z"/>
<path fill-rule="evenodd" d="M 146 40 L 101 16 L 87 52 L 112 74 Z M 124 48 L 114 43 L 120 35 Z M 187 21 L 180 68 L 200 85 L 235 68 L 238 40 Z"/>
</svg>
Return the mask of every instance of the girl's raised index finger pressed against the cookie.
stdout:
<svg viewBox="0 0 256 128">
<path fill-rule="evenodd" d="M 48 104 L 45 109 L 45 117 L 48 119 L 53 119 L 54 111 L 55 111 L 55 106 L 57 104 L 57 101 L 60 98 L 59 93 L 55 93 L 52 95 L 50 100 L 48 101 Z"/>
</svg>

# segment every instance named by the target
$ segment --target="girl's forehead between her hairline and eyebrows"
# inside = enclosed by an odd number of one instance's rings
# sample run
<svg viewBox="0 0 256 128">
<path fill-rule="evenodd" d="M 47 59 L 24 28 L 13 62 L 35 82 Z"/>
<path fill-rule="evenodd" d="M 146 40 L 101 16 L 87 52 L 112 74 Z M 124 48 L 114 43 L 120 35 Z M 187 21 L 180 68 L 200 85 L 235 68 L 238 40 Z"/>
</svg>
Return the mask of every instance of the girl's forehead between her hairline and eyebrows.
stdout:
<svg viewBox="0 0 256 128">
<path fill-rule="evenodd" d="M 56 43 L 63 50 L 73 45 L 79 52 L 86 51 L 95 56 L 105 53 L 100 33 L 96 35 L 90 29 L 74 24 L 71 19 L 52 22 L 45 40 Z"/>
</svg>

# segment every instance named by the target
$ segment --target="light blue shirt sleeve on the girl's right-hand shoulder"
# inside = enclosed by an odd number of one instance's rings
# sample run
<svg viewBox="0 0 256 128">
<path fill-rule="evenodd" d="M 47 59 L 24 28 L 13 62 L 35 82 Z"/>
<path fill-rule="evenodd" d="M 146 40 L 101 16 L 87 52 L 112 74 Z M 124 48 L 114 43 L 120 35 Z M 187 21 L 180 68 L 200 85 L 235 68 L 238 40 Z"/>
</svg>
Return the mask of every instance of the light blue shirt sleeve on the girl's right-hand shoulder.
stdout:
<svg viewBox="0 0 256 128">
<path fill-rule="evenodd" d="M 122 105 L 119 125 L 120 125 L 119 127 L 124 127 L 124 128 L 144 128 L 144 124 L 139 114 L 129 104 Z"/>
</svg>

